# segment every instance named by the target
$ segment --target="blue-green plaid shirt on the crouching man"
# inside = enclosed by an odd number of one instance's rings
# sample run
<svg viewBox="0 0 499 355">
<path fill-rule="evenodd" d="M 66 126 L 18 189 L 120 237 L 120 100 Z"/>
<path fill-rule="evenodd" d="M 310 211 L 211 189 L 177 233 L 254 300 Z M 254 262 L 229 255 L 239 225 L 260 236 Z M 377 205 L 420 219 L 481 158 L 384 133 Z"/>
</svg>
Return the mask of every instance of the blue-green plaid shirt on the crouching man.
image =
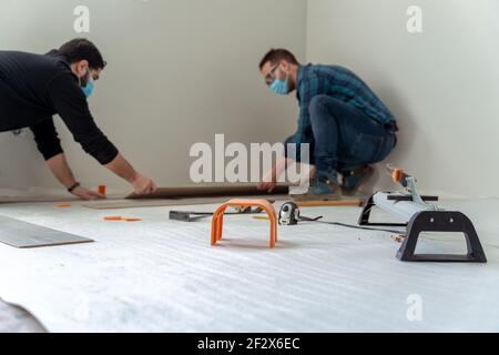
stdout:
<svg viewBox="0 0 499 355">
<path fill-rule="evenodd" d="M 355 73 L 338 65 L 302 65 L 298 69 L 297 99 L 299 101 L 298 131 L 289 143 L 314 143 L 309 105 L 316 95 L 329 95 L 363 111 L 380 124 L 395 121 L 390 110 Z"/>
</svg>

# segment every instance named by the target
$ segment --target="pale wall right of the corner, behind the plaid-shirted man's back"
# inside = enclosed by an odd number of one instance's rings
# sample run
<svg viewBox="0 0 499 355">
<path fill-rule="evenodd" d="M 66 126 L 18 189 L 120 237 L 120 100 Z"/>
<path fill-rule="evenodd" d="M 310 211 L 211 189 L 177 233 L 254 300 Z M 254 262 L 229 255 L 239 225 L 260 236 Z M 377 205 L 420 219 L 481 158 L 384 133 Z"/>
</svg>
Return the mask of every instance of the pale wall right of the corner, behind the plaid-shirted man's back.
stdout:
<svg viewBox="0 0 499 355">
<path fill-rule="evenodd" d="M 401 126 L 389 161 L 427 192 L 499 196 L 498 39 L 497 0 L 308 0 L 307 59 L 349 67 L 387 102 Z"/>
</svg>

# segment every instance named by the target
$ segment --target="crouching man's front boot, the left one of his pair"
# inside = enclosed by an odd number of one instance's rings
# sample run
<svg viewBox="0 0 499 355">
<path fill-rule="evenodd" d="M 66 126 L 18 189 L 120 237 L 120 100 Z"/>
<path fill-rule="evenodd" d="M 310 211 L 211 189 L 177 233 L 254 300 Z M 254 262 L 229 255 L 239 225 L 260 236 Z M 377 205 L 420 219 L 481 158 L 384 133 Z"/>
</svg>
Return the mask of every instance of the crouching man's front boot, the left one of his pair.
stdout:
<svg viewBox="0 0 499 355">
<path fill-rule="evenodd" d="M 306 194 L 292 195 L 295 201 L 338 201 L 340 191 L 336 173 L 317 171 Z"/>
</svg>

